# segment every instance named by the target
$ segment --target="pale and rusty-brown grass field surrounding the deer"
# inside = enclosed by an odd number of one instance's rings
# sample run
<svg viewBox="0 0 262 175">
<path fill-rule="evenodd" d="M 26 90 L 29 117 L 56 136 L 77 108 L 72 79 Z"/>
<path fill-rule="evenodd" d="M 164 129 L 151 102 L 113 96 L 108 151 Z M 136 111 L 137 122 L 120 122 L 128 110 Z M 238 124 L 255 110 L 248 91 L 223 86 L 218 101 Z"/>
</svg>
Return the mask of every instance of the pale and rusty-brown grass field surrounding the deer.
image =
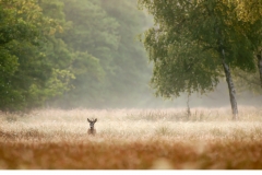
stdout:
<svg viewBox="0 0 262 175">
<path fill-rule="evenodd" d="M 88 136 L 86 118 L 97 118 Z M 1 170 L 262 170 L 262 108 L 0 114 Z M 187 119 L 186 119 L 187 118 Z"/>
</svg>

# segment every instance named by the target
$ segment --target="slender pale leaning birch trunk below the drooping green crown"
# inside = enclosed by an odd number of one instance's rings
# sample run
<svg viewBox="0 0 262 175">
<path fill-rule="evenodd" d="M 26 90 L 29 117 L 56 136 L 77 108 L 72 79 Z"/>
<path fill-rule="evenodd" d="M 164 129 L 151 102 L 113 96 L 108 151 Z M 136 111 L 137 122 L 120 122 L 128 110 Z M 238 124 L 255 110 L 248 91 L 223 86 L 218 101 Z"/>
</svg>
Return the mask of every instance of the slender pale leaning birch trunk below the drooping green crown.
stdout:
<svg viewBox="0 0 262 175">
<path fill-rule="evenodd" d="M 235 91 L 235 88 L 234 88 L 229 66 L 225 61 L 225 50 L 224 49 L 222 49 L 222 56 L 223 56 L 222 62 L 223 62 L 224 71 L 225 71 L 225 74 L 226 74 L 226 81 L 227 81 L 227 85 L 228 85 L 228 90 L 229 90 L 229 97 L 230 97 L 231 112 L 233 112 L 233 120 L 237 120 L 238 119 L 238 106 L 237 106 L 236 91 Z"/>
</svg>

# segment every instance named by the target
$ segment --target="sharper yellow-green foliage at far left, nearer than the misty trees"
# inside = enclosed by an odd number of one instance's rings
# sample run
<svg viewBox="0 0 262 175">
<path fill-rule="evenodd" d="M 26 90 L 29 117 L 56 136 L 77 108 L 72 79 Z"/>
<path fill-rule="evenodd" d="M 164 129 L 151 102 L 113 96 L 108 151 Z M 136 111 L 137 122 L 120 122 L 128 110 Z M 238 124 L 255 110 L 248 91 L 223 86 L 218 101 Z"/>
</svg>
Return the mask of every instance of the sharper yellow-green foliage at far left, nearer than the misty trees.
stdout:
<svg viewBox="0 0 262 175">
<path fill-rule="evenodd" d="M 59 24 L 46 18 L 34 0 L 2 0 L 0 11 L 0 107 L 39 106 L 52 95 L 47 82 L 55 73 L 44 47 Z"/>
</svg>

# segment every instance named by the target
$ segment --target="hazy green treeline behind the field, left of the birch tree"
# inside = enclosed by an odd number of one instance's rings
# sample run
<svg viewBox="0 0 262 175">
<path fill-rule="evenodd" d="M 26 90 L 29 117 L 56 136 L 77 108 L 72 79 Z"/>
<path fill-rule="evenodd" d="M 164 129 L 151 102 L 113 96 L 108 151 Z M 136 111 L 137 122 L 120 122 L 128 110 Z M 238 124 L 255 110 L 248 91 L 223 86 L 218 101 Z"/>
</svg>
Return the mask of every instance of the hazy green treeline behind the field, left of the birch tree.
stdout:
<svg viewBox="0 0 262 175">
<path fill-rule="evenodd" d="M 148 22 L 136 0 L 1 0 L 0 110 L 136 105 Z"/>
</svg>

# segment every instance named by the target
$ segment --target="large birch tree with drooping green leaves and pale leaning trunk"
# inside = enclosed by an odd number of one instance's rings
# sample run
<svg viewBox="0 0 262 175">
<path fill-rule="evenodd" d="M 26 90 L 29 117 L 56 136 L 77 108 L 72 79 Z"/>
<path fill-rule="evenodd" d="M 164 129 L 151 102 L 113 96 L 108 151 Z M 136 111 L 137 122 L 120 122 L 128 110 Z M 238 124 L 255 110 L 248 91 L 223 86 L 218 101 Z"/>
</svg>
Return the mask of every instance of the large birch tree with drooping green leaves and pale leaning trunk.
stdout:
<svg viewBox="0 0 262 175">
<path fill-rule="evenodd" d="M 231 69 L 255 68 L 249 24 L 238 19 L 237 3 L 224 0 L 140 0 L 155 26 L 143 43 L 154 62 L 152 85 L 156 94 L 179 96 L 181 92 L 214 90 L 225 77 L 233 110 L 238 118 Z M 186 66 L 186 67 L 184 67 Z M 224 73 L 223 73 L 224 72 Z"/>
</svg>

